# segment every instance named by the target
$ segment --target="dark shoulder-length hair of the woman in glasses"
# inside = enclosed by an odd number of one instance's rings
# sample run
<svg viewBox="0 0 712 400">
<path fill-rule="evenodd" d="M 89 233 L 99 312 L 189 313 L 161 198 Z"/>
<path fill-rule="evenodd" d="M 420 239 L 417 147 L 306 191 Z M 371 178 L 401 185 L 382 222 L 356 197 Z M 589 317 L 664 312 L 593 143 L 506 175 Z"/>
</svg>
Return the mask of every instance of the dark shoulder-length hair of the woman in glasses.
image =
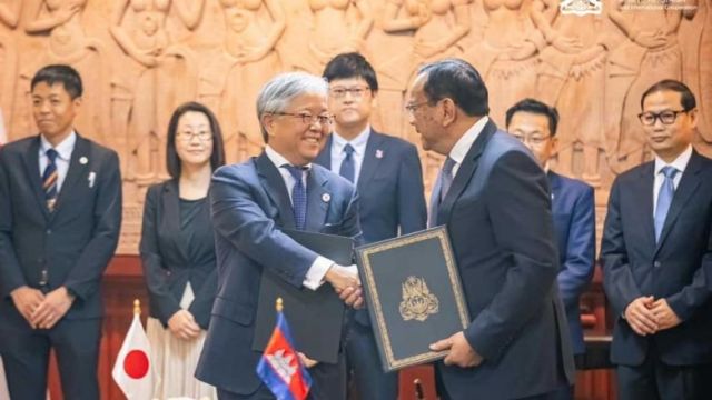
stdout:
<svg viewBox="0 0 712 400">
<path fill-rule="evenodd" d="M 206 106 L 189 101 L 178 106 L 174 114 L 170 116 L 168 122 L 168 138 L 166 140 L 166 164 L 168 167 L 168 173 L 174 178 L 180 178 L 180 158 L 176 152 L 176 133 L 178 131 L 178 120 L 186 112 L 195 111 L 201 112 L 208 117 L 210 122 L 210 131 L 212 132 L 212 154 L 210 156 L 210 168 L 215 171 L 221 166 L 225 166 L 225 144 L 222 143 L 222 131 L 220 130 L 220 123 L 215 117 L 212 111 Z"/>
</svg>

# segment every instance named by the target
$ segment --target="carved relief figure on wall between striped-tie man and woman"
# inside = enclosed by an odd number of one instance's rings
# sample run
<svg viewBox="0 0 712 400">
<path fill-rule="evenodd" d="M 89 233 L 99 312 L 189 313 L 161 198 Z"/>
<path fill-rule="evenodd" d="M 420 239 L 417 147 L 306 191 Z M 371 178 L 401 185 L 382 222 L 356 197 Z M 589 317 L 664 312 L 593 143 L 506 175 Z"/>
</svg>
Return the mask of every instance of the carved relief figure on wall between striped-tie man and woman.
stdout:
<svg viewBox="0 0 712 400">
<path fill-rule="evenodd" d="M 126 163 L 125 176 L 140 187 L 168 178 L 164 160 L 169 113 L 195 92 L 187 79 L 195 76 L 189 51 L 172 44 L 166 29 L 171 7 L 188 29 L 195 29 L 205 0 L 120 0 L 109 28 L 135 61 L 126 66 L 131 70 L 130 83 L 115 82 L 112 106 L 113 117 L 128 121 L 127 150 L 132 162 Z"/>
</svg>

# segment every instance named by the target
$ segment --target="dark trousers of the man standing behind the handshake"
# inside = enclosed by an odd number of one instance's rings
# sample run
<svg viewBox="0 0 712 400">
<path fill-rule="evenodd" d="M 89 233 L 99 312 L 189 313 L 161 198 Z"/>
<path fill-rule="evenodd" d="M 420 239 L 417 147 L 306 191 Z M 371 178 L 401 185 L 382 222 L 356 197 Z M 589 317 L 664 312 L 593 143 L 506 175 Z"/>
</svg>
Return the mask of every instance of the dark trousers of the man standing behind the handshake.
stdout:
<svg viewBox="0 0 712 400">
<path fill-rule="evenodd" d="M 385 373 L 380 364 L 376 339 L 370 327 L 352 321 L 346 341 L 347 370 L 353 373 L 362 400 L 398 398 L 398 374 Z"/>
</svg>

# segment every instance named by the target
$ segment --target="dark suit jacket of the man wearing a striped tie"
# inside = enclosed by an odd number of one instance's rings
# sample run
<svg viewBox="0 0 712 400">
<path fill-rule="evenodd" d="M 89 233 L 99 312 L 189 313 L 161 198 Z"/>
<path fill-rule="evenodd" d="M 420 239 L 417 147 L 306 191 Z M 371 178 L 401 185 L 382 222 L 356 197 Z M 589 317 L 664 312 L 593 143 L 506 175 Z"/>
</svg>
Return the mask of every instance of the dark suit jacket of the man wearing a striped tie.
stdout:
<svg viewBox="0 0 712 400">
<path fill-rule="evenodd" d="M 113 150 L 77 134 L 69 170 L 49 212 L 39 171 L 40 137 L 0 149 L 0 307 L 10 292 L 66 286 L 77 299 L 67 319 L 103 314 L 101 276 L 119 240 L 121 174 Z"/>
</svg>

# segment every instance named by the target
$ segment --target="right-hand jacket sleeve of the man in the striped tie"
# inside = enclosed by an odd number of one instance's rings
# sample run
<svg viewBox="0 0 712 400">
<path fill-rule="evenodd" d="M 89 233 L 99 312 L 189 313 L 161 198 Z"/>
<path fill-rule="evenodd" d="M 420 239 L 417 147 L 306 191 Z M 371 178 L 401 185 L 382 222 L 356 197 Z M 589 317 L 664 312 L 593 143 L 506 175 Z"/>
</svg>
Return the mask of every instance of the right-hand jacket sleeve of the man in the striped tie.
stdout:
<svg viewBox="0 0 712 400">
<path fill-rule="evenodd" d="M 93 232 L 77 263 L 69 272 L 65 286 L 80 300 L 93 294 L 113 257 L 121 229 L 121 172 L 119 158 L 111 151 L 107 156 L 102 177 L 93 203 Z"/>
</svg>

